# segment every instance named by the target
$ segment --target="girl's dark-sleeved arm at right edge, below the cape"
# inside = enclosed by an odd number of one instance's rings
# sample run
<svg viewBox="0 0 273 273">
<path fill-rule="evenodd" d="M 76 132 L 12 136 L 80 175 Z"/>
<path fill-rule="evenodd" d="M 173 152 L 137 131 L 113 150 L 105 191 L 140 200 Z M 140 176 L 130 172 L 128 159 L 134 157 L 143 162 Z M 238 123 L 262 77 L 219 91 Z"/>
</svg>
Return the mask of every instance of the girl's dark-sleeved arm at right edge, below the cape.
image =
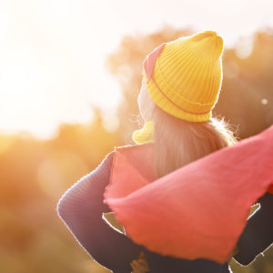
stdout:
<svg viewBox="0 0 273 273">
<path fill-rule="evenodd" d="M 242 265 L 248 265 L 273 243 L 273 195 L 266 193 L 259 203 L 260 208 L 248 219 L 238 240 L 238 254 L 234 258 Z"/>
</svg>

